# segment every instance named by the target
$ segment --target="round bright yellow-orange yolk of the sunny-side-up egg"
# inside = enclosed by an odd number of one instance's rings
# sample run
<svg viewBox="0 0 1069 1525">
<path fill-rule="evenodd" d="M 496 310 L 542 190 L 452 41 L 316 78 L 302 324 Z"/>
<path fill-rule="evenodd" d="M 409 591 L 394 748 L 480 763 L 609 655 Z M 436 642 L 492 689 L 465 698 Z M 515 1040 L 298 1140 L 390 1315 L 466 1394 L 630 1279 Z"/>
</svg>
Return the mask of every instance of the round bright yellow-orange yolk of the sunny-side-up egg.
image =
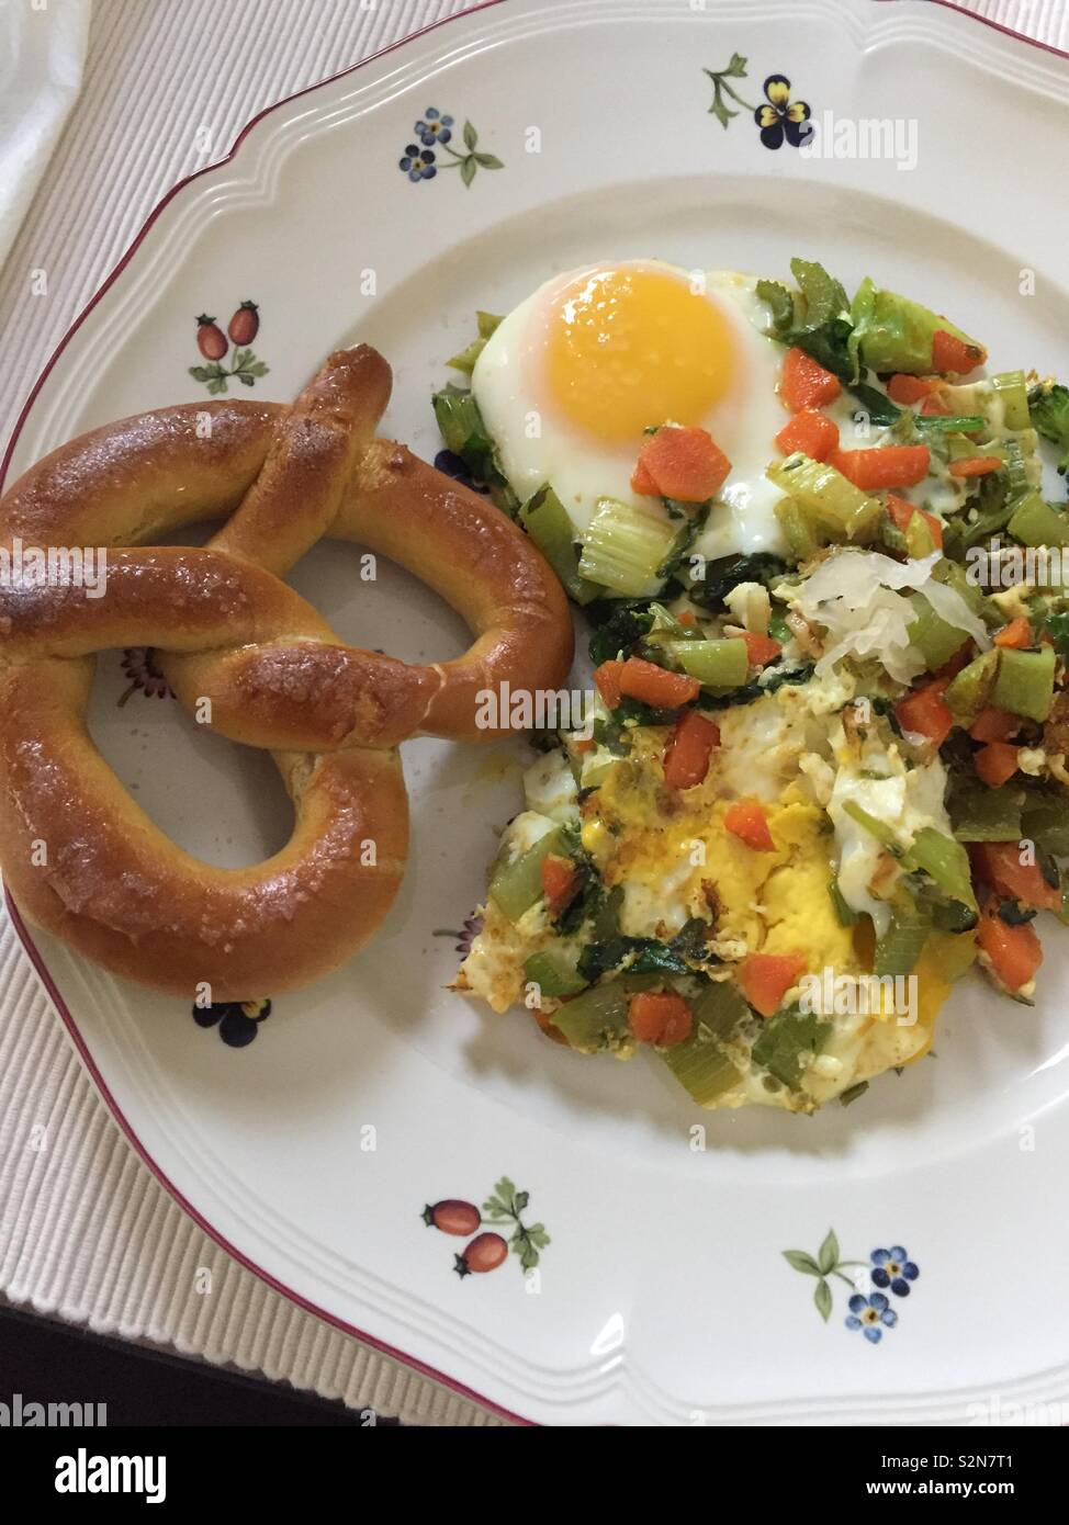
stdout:
<svg viewBox="0 0 1069 1525">
<path fill-rule="evenodd" d="M 631 439 L 651 424 L 698 424 L 724 396 L 735 345 L 705 293 L 660 270 L 583 274 L 557 297 L 549 390 L 579 429 Z"/>
</svg>

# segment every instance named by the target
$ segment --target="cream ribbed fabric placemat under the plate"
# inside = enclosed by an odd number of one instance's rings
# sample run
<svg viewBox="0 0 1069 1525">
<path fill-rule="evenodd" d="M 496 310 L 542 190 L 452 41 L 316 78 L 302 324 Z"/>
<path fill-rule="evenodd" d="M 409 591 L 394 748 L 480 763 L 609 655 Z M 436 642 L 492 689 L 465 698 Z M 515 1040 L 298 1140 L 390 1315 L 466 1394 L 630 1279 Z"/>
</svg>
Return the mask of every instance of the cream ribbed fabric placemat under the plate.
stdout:
<svg viewBox="0 0 1069 1525">
<path fill-rule="evenodd" d="M 1069 49 L 1064 0 L 967 8 Z M 52 349 L 177 180 L 226 156 L 265 105 L 464 9 L 465 0 L 95 0 L 81 99 L 0 276 L 5 436 Z M 209 151 L 198 146 L 203 128 Z M 34 270 L 47 271 L 47 296 L 30 296 Z M 201 1267 L 212 1272 L 207 1296 L 194 1290 Z M 2 903 L 0 1296 L 410 1423 L 500 1423 L 297 1308 L 181 1212 L 96 1095 Z"/>
</svg>

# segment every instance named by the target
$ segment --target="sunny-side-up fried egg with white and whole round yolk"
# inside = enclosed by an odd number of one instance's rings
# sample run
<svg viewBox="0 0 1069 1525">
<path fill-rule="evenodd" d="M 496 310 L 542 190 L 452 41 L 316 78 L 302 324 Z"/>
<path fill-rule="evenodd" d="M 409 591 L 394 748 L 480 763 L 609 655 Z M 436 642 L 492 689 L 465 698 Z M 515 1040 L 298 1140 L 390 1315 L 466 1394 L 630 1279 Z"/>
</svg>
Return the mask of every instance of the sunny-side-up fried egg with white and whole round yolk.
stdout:
<svg viewBox="0 0 1069 1525">
<path fill-rule="evenodd" d="M 499 325 L 471 387 L 520 499 L 549 483 L 578 534 L 598 499 L 631 491 L 644 430 L 706 429 L 732 464 L 694 552 L 785 546 L 766 479 L 785 422 L 782 348 L 766 337 L 756 278 L 653 259 L 572 270 Z"/>
</svg>

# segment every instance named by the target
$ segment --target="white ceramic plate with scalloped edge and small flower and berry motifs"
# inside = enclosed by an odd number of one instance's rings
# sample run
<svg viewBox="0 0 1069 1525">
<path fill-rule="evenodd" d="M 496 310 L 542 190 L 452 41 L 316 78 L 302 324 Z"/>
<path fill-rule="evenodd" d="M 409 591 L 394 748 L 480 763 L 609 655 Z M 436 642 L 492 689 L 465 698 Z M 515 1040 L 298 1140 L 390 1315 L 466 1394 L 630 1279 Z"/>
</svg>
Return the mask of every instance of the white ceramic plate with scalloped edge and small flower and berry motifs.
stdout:
<svg viewBox="0 0 1069 1525">
<path fill-rule="evenodd" d="M 706 70 L 732 55 L 721 122 Z M 915 165 L 766 146 L 753 108 L 772 75 L 822 124 L 913 124 Z M 387 427 L 433 456 L 429 393 L 474 310 L 612 256 L 785 274 L 801 253 L 848 285 L 871 271 L 978 331 L 996 366 L 1064 375 L 1067 101 L 1060 56 L 913 0 L 485 6 L 273 108 L 180 186 L 53 358 L 8 480 L 90 425 L 206 395 L 194 317 L 244 299 L 259 303 L 246 348 L 268 369 L 232 392 L 288 400 L 328 349 L 371 340 L 395 369 Z M 412 180 L 413 124 L 441 136 L 447 116 L 439 172 Z M 470 152 L 494 162 L 465 169 Z M 404 657 L 465 645 L 403 573 L 361 583 L 351 547 L 320 546 L 293 581 L 346 639 Z M 171 703 L 117 708 L 124 686 L 104 662 L 93 729 L 149 813 L 212 862 L 273 849 L 287 827 L 267 756 Z M 531 1420 L 962 1421 L 991 1395 L 1069 1395 L 1057 929 L 1034 1011 L 968 981 L 938 1060 L 857 1106 L 703 1115 L 660 1066 L 576 1058 L 444 990 L 456 958 L 435 932 L 480 895 L 522 756 L 406 746 L 413 852 L 384 930 L 281 999 L 246 1048 L 27 941 L 157 1174 L 290 1296 Z M 467 1240 L 421 1209 L 482 1208 L 502 1177 L 549 1234 L 537 1276 L 509 1255 L 461 1278 Z M 845 1327 L 851 1283 L 900 1246 L 920 1276 L 889 1293 L 898 1319 L 874 1344 Z M 819 1275 L 787 1249 L 823 1254 L 827 1322 Z"/>
</svg>

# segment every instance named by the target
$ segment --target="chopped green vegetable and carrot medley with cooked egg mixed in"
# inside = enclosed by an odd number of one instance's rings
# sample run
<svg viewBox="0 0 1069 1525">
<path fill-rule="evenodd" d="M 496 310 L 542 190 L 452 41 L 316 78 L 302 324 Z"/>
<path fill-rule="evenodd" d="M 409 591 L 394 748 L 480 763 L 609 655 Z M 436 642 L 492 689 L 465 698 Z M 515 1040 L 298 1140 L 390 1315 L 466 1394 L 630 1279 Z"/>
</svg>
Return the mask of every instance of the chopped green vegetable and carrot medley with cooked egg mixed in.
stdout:
<svg viewBox="0 0 1069 1525">
<path fill-rule="evenodd" d="M 1039 918 L 1067 920 L 1069 387 L 984 375 L 978 340 L 871 279 L 791 274 L 755 285 L 778 546 L 700 554 L 718 491 L 636 485 L 579 531 L 551 482 L 517 497 L 471 390 L 435 412 L 593 671 L 586 726 L 538 738 L 461 988 L 581 1052 L 645 1048 L 701 1106 L 811 1112 L 921 1057 L 970 964 L 1031 1003 Z M 825 965 L 917 976 L 912 1020 L 807 1002 Z"/>
</svg>

